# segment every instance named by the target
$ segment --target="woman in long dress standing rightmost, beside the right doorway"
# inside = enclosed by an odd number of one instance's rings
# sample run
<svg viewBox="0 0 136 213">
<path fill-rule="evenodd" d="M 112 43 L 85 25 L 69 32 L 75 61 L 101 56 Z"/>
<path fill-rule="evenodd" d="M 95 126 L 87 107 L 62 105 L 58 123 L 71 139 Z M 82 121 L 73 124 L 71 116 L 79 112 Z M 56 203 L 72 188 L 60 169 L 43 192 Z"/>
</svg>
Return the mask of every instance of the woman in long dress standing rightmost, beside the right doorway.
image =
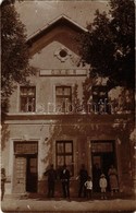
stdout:
<svg viewBox="0 0 136 213">
<path fill-rule="evenodd" d="M 110 180 L 111 194 L 113 196 L 113 192 L 119 191 L 118 171 L 113 165 L 111 165 L 108 175 Z"/>
</svg>

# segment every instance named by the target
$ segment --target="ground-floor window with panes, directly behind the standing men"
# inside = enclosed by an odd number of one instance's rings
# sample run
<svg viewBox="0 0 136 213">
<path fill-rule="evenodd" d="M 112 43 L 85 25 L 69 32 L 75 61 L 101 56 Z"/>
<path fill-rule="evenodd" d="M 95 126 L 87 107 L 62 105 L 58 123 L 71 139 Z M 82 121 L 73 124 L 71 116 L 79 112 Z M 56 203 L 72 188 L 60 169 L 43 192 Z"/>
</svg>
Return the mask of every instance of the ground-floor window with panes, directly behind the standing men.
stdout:
<svg viewBox="0 0 136 213">
<path fill-rule="evenodd" d="M 57 168 L 66 164 L 71 175 L 74 175 L 73 168 L 73 141 L 57 141 L 55 144 Z"/>
</svg>

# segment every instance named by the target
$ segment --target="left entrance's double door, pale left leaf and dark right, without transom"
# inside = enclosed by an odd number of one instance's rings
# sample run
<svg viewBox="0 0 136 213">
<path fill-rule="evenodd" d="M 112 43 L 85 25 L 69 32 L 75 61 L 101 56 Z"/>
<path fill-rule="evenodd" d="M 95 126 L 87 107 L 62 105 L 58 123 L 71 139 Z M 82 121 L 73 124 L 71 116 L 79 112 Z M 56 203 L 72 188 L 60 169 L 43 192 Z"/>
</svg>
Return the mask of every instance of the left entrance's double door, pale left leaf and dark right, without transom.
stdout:
<svg viewBox="0 0 136 213">
<path fill-rule="evenodd" d="M 16 193 L 37 191 L 37 154 L 15 155 L 13 191 Z"/>
</svg>

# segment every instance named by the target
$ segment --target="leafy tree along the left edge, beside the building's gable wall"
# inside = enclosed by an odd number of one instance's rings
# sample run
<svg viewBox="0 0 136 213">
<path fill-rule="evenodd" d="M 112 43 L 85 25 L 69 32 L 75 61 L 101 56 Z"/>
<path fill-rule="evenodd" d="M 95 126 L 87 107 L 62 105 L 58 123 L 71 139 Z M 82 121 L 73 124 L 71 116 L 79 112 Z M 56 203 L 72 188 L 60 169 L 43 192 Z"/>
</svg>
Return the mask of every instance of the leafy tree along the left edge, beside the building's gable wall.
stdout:
<svg viewBox="0 0 136 213">
<path fill-rule="evenodd" d="M 25 26 L 14 8 L 14 0 L 1 4 L 1 109 L 7 113 L 16 83 L 28 83 L 35 70 L 29 67 Z"/>
</svg>

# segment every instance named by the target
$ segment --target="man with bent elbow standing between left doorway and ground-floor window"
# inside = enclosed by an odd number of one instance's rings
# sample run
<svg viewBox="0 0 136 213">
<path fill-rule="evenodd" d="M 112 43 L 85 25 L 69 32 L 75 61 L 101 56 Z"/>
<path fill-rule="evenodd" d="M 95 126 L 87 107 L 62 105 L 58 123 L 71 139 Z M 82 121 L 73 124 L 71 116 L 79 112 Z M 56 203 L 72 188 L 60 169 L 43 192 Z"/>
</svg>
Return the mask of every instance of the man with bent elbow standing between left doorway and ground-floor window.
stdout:
<svg viewBox="0 0 136 213">
<path fill-rule="evenodd" d="M 44 174 L 48 176 L 48 198 L 54 197 L 54 185 L 57 179 L 57 173 L 53 168 L 53 164 L 50 165 L 50 168 Z"/>
</svg>

